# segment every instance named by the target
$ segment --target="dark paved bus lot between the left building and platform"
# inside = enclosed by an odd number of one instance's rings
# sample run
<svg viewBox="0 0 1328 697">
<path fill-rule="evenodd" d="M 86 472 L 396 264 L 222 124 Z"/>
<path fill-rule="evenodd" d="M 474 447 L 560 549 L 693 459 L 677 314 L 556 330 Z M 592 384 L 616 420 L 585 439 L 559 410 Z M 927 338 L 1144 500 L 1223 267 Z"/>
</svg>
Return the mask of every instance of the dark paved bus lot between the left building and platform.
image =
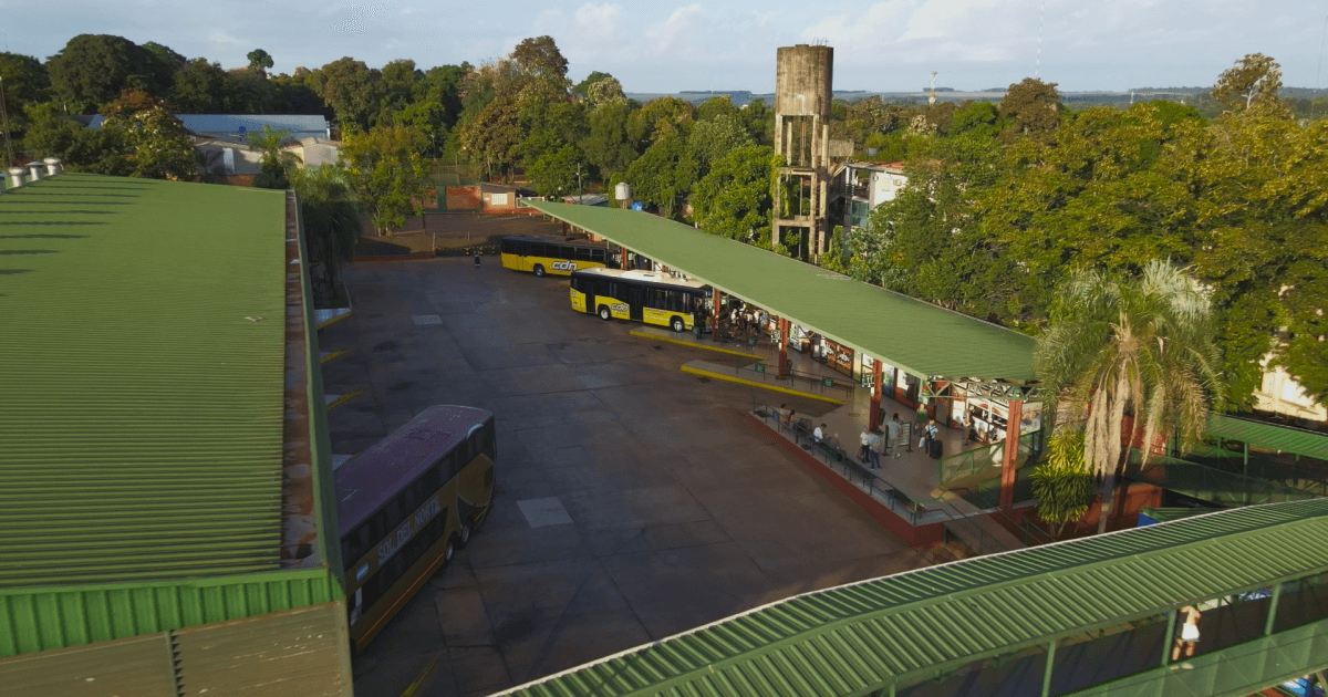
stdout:
<svg viewBox="0 0 1328 697">
<path fill-rule="evenodd" d="M 753 397 L 823 402 L 679 370 L 716 353 L 571 311 L 566 279 L 485 258 L 345 270 L 355 313 L 321 332 L 333 453 L 434 404 L 497 414 L 494 512 L 355 660 L 361 697 L 470 696 L 920 555 L 745 416 Z M 437 324 L 417 324 L 433 321 Z M 421 319 L 422 317 L 422 319 Z M 538 524 L 525 507 L 566 510 Z M 530 503 L 537 502 L 537 503 Z M 556 506 L 554 506 L 556 510 Z M 535 524 L 533 524 L 535 523 Z"/>
</svg>

